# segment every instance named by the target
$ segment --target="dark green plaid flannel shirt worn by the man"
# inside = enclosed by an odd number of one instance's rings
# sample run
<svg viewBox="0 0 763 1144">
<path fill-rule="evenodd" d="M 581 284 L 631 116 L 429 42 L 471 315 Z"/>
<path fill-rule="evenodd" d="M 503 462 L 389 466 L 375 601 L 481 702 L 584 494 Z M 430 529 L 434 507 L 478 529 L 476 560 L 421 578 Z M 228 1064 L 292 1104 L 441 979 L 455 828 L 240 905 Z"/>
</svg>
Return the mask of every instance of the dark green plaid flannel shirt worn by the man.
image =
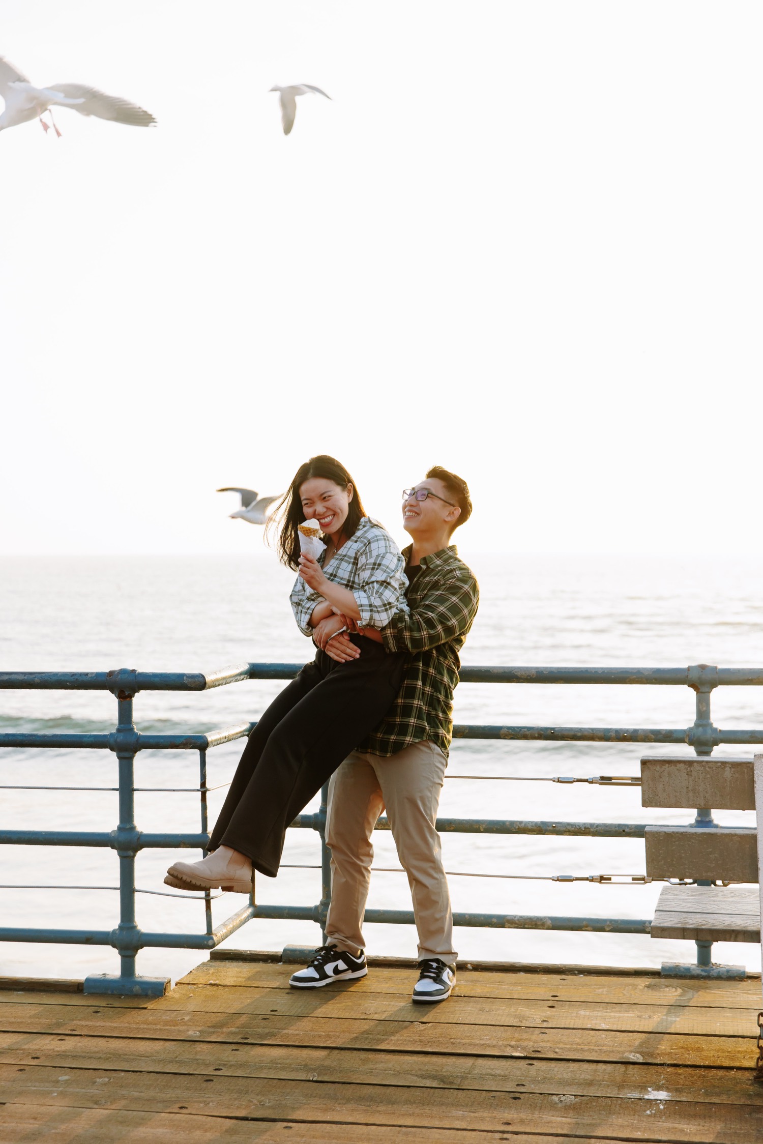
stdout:
<svg viewBox="0 0 763 1144">
<path fill-rule="evenodd" d="M 407 563 L 410 546 L 403 555 Z M 422 557 L 407 601 L 410 611 L 398 612 L 382 629 L 388 651 L 410 653 L 403 685 L 382 722 L 358 749 L 388 757 L 429 739 L 447 757 L 453 737 L 453 690 L 461 667 L 459 651 L 479 604 L 479 586 L 459 559 L 455 545 Z"/>
</svg>

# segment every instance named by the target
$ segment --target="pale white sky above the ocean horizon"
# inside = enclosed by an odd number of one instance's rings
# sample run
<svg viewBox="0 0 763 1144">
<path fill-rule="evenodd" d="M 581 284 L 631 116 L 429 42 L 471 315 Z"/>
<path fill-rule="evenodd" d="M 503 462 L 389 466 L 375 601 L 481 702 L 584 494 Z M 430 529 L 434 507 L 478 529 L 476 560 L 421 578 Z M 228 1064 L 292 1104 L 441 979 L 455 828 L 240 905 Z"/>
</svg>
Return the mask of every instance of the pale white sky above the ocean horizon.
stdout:
<svg viewBox="0 0 763 1144">
<path fill-rule="evenodd" d="M 464 549 L 763 551 L 760 2 L 3 0 L 7 553 L 226 553 L 309 455 Z M 284 137 L 273 84 L 299 101 Z M 456 534 L 458 535 L 458 534 Z"/>
</svg>

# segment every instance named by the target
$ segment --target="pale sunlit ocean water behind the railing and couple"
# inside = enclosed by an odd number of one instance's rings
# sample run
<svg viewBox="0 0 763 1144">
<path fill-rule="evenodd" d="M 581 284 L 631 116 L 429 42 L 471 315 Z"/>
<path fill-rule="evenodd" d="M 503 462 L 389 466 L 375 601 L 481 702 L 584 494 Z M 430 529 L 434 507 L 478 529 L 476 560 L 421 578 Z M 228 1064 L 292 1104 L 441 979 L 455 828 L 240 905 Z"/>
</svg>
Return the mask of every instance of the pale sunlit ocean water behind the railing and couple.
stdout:
<svg viewBox="0 0 763 1144">
<path fill-rule="evenodd" d="M 462 554 L 475 569 L 482 604 L 463 662 L 675 667 L 709 662 L 726 667 L 763 665 L 763 562 L 728 556 L 706 558 L 569 557 Z M 310 645 L 288 606 L 292 575 L 275 556 L 251 557 L 5 557 L 0 559 L 0 666 L 8 670 L 212 670 L 241 661 L 303 662 Z M 149 731 L 207 731 L 256 718 L 281 683 L 252 681 L 201 694 L 142 693 L 135 722 Z M 581 725 L 688 726 L 694 697 L 686 688 L 549 686 L 462 684 L 458 722 Z M 763 693 L 723 688 L 713 699 L 723 728 L 763 726 Z M 0 692 L 0 729 L 108 731 L 116 702 L 96 692 Z M 669 748 L 662 748 L 669 753 Z M 241 742 L 208 753 L 214 821 L 224 784 Z M 659 748 L 658 748 L 659 750 Z M 440 803 L 444 816 L 686 823 L 686 811 L 644 810 L 638 788 L 507 781 L 557 774 L 637 774 L 642 749 L 614 744 L 455 742 Z M 716 754 L 723 754 L 720 748 Z M 731 754 L 731 750 L 726 750 Z M 752 748 L 748 752 L 752 755 Z M 458 776 L 487 776 L 460 778 Z M 117 785 L 109 752 L 0 750 L 0 786 L 108 787 Z M 143 752 L 137 787 L 198 785 L 191 752 Z M 6 828 L 111 829 L 118 820 L 113 789 L 2 789 L 0 824 Z M 198 796 L 137 793 L 136 821 L 146 831 L 198 829 Z M 721 811 L 722 824 L 753 825 L 752 812 Z M 374 837 L 375 865 L 397 867 L 391 835 Z M 660 885 L 598 885 L 550 881 L 480 879 L 478 874 L 638 874 L 638 840 L 549 839 L 532 835 L 445 835 L 446 868 L 454 909 L 527 914 L 650 917 Z M 148 851 L 137 859 L 137 885 L 161 891 L 170 853 Z M 319 863 L 317 836 L 291 831 L 284 863 Z M 0 884 L 116 887 L 118 859 L 110 850 L 3 847 Z M 319 871 L 283 868 L 259 877 L 257 899 L 310 905 L 320 897 Z M 214 903 L 215 922 L 243 904 L 237 895 Z M 400 873 L 373 876 L 371 906 L 410 908 Z M 111 889 L 0 888 L 3 925 L 66 925 L 110 929 L 118 921 Z M 140 893 L 144 929 L 201 931 L 202 905 L 183 898 Z M 415 955 L 415 930 L 368 925 L 371 953 Z M 310 922 L 253 921 L 228 947 L 280 950 L 317 945 Z M 587 964 L 659 966 L 691 961 L 693 943 L 646 936 L 566 934 L 538 930 L 456 930 L 466 958 Z M 760 968 L 760 951 L 716 945 L 714 959 Z M 204 960 L 198 951 L 149 950 L 138 972 L 176 978 Z M 110 948 L 0 944 L 0 975 L 81 977 L 114 972 Z"/>
</svg>

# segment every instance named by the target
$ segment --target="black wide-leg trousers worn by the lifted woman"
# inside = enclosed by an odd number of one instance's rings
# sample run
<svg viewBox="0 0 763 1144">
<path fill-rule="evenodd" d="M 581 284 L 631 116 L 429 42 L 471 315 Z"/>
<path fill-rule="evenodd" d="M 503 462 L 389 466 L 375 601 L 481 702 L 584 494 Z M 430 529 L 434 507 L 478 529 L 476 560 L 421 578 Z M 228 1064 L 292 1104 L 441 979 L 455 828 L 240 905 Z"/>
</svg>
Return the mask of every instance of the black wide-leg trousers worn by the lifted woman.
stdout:
<svg viewBox="0 0 763 1144">
<path fill-rule="evenodd" d="M 232 847 L 262 874 L 278 873 L 286 828 L 373 731 L 400 689 L 405 652 L 351 636 L 360 657 L 318 651 L 271 702 L 244 748 L 209 849 Z"/>
</svg>

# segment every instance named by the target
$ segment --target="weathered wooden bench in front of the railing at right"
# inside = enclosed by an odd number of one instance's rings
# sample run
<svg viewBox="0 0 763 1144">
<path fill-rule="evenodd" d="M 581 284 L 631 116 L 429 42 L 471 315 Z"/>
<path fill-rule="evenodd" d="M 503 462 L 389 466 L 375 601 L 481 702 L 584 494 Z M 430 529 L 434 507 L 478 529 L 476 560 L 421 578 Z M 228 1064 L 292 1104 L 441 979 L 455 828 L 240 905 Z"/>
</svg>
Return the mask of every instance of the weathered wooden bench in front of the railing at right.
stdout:
<svg viewBox="0 0 763 1144">
<path fill-rule="evenodd" d="M 763 755 L 756 757 L 763 779 Z M 710 950 L 714 942 L 761 942 L 757 832 L 716 826 L 708 808 L 755 810 L 753 760 L 646 757 L 641 773 L 643 807 L 700 808 L 691 826 L 647 826 L 645 832 L 649 877 L 698 883 L 666 885 L 660 893 L 652 937 L 697 943 L 696 964 L 666 962 L 663 975 L 744 976 L 741 966 L 714 966 Z"/>
</svg>

